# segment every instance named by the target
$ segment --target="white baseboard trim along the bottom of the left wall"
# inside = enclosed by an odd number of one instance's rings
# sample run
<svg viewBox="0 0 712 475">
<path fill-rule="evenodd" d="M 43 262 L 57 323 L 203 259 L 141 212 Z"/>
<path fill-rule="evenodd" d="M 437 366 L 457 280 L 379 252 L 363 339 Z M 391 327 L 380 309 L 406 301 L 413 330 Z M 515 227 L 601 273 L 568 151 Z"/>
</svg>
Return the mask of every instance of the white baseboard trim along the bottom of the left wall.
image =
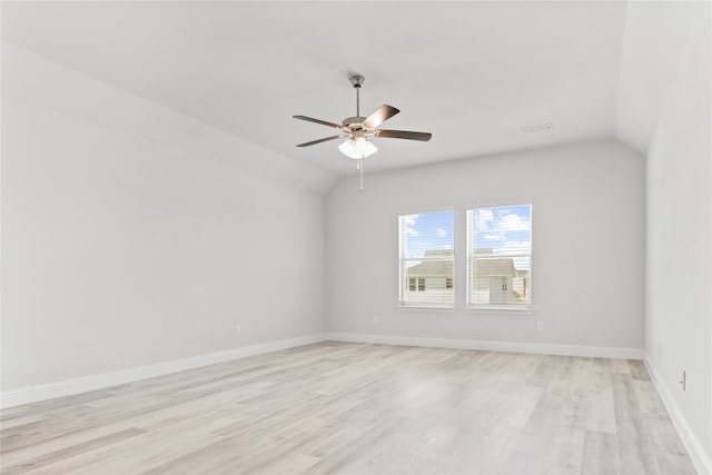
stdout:
<svg viewBox="0 0 712 475">
<path fill-rule="evenodd" d="M 119 384 L 132 383 L 155 376 L 162 376 L 171 373 L 182 372 L 186 369 L 194 369 L 201 366 L 229 362 L 231 359 L 239 359 L 248 356 L 261 355 L 264 353 L 277 352 L 280 349 L 320 343 L 325 339 L 325 334 L 307 335 L 297 338 L 289 338 L 277 342 L 263 343 L 259 345 L 245 346 L 241 348 L 228 349 L 225 352 L 216 352 L 207 355 L 174 359 L 170 362 L 157 363 L 155 365 L 128 368 L 119 372 L 103 373 L 99 375 L 85 376 L 62 382 L 4 390 L 0 393 L 0 408 L 20 406 L 23 404 L 53 399 L 56 397 L 71 396 L 72 394 L 102 389 Z"/>
</svg>

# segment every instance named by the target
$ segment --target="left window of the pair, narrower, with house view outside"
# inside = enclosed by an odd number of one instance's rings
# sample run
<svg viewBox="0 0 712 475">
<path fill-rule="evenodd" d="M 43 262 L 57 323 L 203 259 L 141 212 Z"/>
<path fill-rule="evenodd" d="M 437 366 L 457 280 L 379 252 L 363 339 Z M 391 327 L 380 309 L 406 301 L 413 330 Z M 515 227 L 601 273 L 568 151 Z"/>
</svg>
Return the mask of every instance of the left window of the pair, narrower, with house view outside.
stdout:
<svg viewBox="0 0 712 475">
<path fill-rule="evenodd" d="M 400 305 L 452 307 L 455 211 L 398 217 Z"/>
</svg>

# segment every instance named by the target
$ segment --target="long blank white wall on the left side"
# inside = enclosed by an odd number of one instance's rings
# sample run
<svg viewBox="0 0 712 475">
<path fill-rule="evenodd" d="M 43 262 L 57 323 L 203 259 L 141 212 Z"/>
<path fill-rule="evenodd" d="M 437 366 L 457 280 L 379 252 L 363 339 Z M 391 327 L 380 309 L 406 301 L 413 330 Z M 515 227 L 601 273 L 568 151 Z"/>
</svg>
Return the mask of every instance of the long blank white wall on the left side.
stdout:
<svg viewBox="0 0 712 475">
<path fill-rule="evenodd" d="M 267 150 L 3 55 L 3 392 L 323 333 L 318 187 L 255 171 L 284 161 Z"/>
</svg>

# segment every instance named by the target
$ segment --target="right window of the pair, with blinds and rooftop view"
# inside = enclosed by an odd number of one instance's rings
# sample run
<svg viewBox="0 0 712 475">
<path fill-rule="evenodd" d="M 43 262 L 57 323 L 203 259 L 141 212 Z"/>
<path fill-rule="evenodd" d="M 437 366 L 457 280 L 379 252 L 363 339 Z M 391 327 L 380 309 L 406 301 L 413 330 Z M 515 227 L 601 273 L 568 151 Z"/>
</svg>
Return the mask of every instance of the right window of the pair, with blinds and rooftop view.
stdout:
<svg viewBox="0 0 712 475">
<path fill-rule="evenodd" d="M 532 205 L 467 210 L 467 306 L 528 308 Z"/>
</svg>

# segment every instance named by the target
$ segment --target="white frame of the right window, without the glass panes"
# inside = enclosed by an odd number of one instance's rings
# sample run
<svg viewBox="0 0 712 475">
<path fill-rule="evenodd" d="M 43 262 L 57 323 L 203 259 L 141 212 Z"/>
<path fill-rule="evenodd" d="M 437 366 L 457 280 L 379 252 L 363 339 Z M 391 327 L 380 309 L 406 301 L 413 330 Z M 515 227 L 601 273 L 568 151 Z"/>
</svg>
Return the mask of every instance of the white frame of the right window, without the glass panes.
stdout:
<svg viewBox="0 0 712 475">
<path fill-rule="evenodd" d="M 528 269 L 528 301 L 525 303 L 492 303 L 492 304 L 483 304 L 483 303 L 474 303 L 473 301 L 473 276 L 472 269 L 474 265 L 474 260 L 477 257 L 474 255 L 473 249 L 473 234 L 475 232 L 473 228 L 473 214 L 476 209 L 488 209 L 488 208 L 506 208 L 512 206 L 528 206 L 530 207 L 530 251 L 521 253 L 521 254 L 507 254 L 506 257 L 512 258 L 528 258 L 530 269 Z M 512 201 L 498 201 L 498 202 L 485 202 L 467 206 L 465 209 L 466 216 L 466 277 L 465 277 L 465 309 L 468 310 L 514 310 L 514 311 L 532 311 L 533 310 L 533 269 L 534 269 L 534 227 L 533 227 L 533 216 L 534 216 L 534 206 L 531 199 L 520 199 Z M 487 259 L 481 257 L 479 259 Z M 506 285 L 506 284 L 504 284 Z"/>
</svg>

